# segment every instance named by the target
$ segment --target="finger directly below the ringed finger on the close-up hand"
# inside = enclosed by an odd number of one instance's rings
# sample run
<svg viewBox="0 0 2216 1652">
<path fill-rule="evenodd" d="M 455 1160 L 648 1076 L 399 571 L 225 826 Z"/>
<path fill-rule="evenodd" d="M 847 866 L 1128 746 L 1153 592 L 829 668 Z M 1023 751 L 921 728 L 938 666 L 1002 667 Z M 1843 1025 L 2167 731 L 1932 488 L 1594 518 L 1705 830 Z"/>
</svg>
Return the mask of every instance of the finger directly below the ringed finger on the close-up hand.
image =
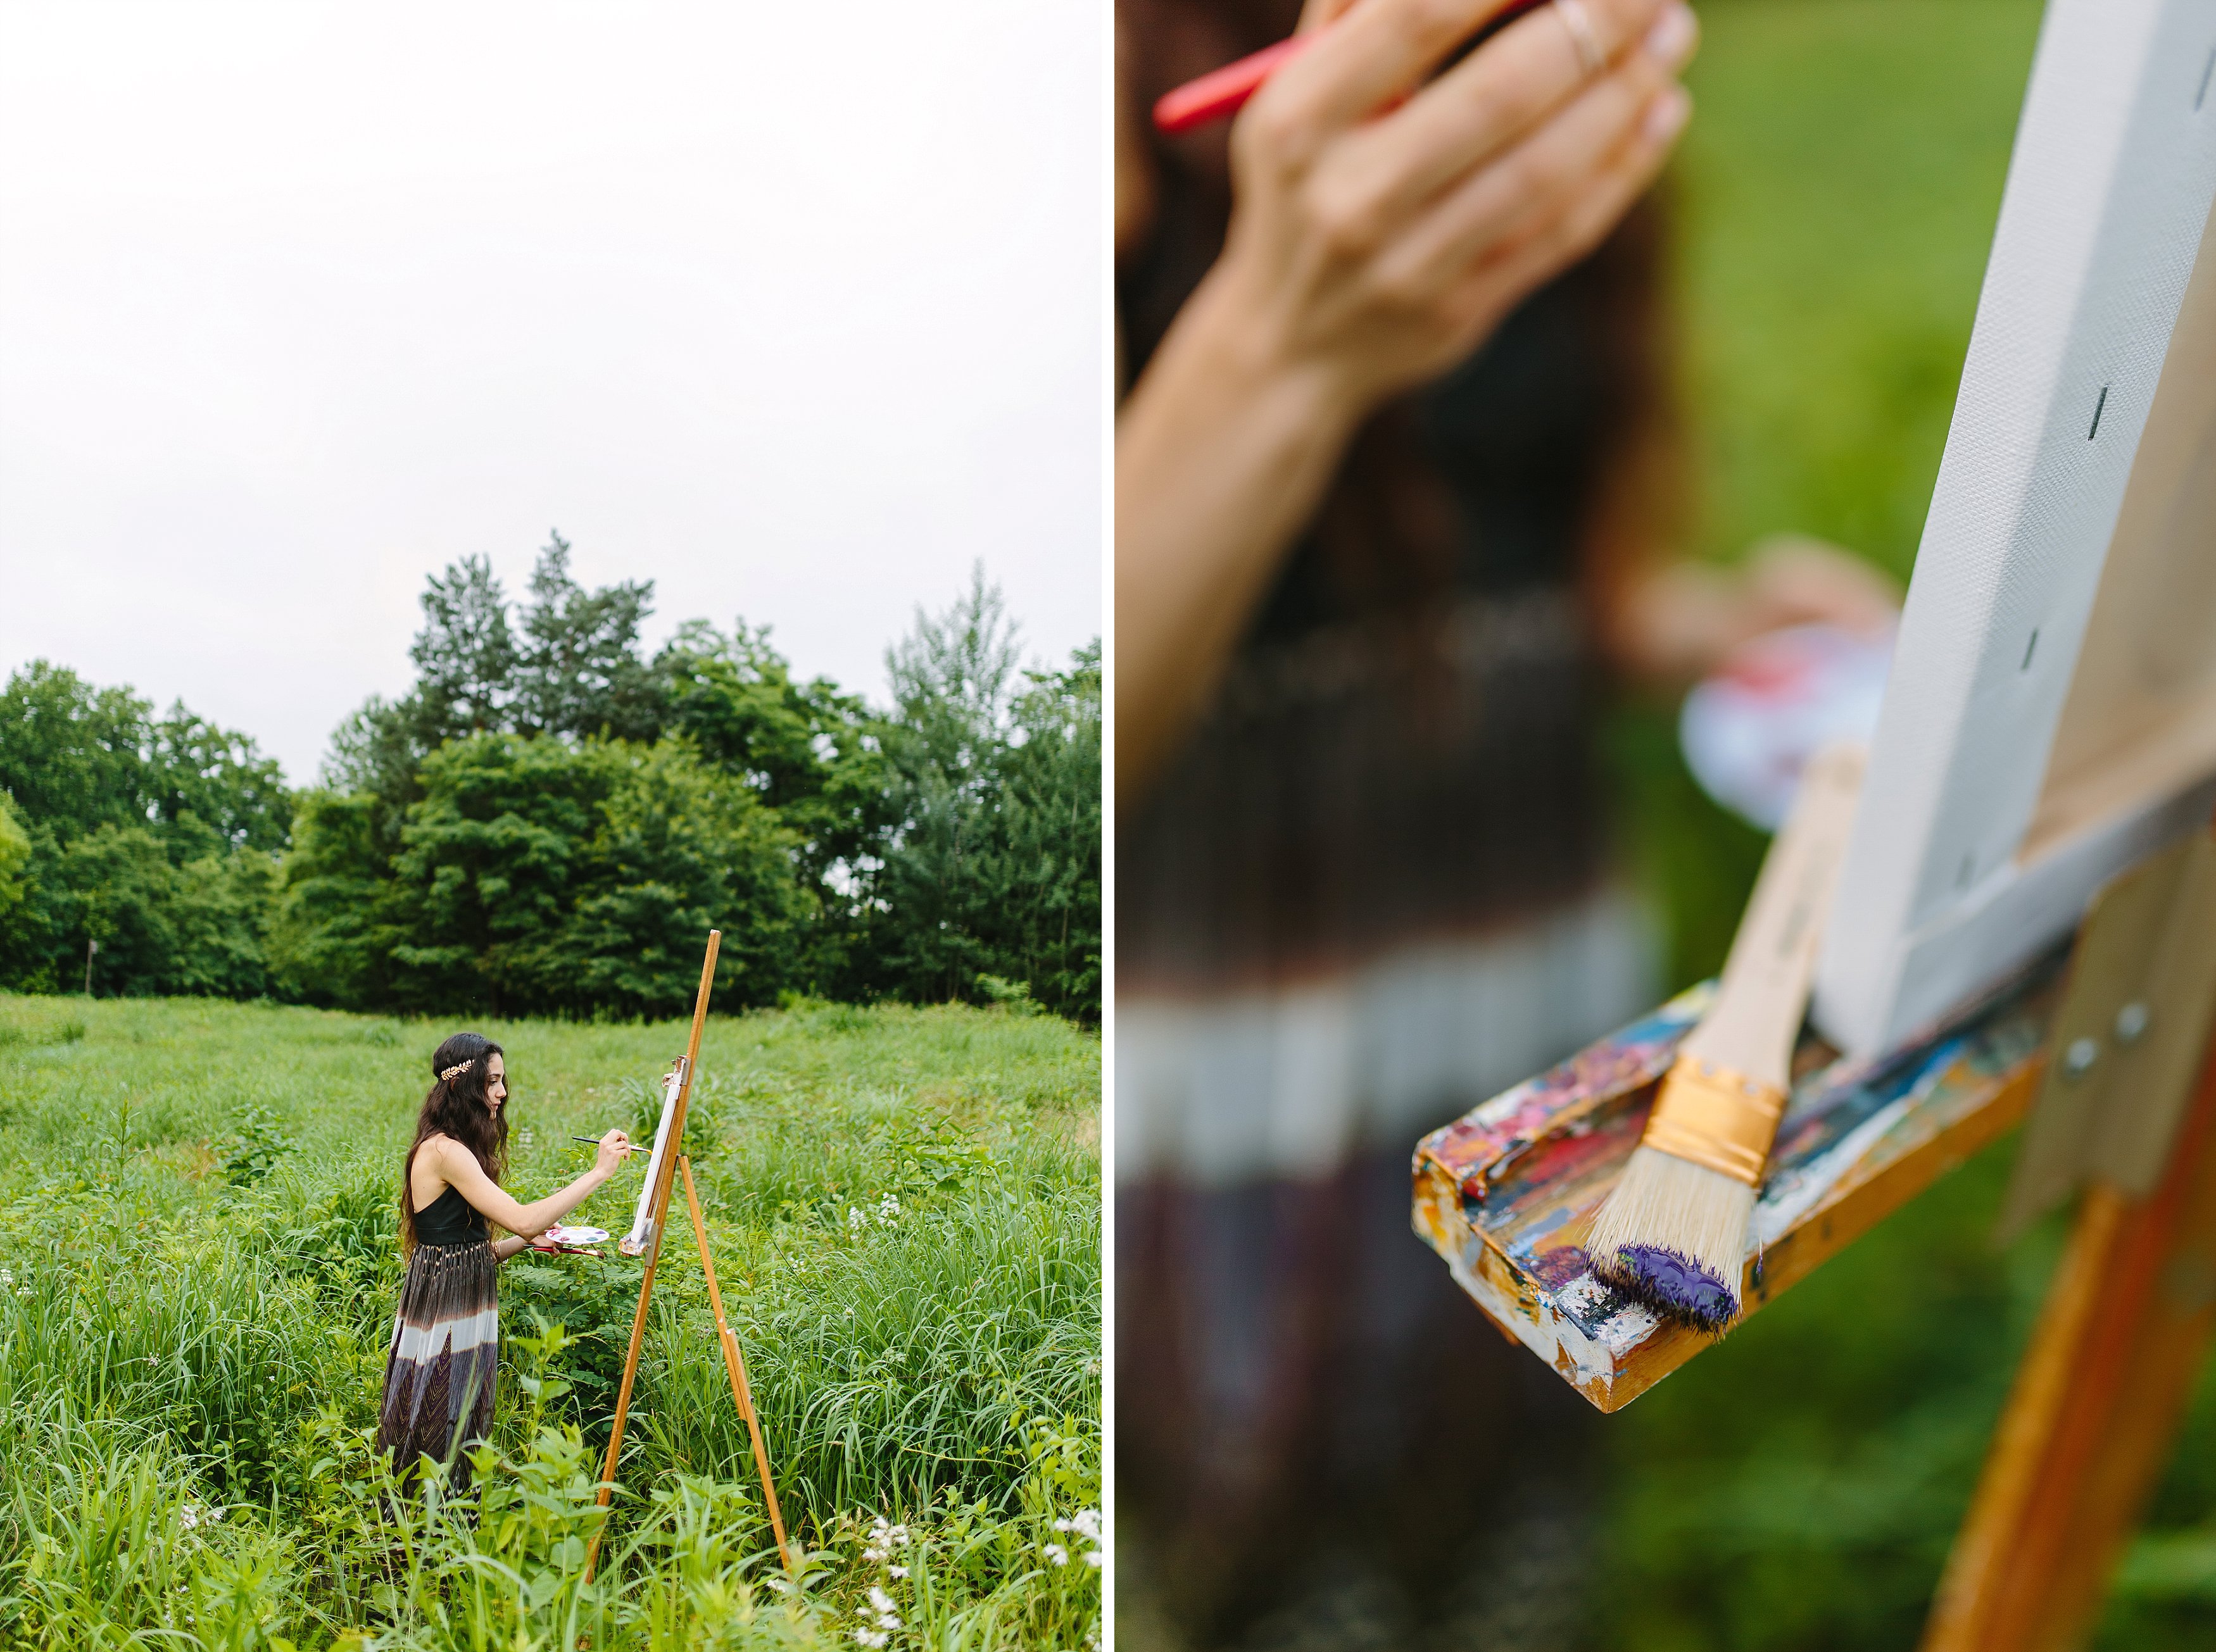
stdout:
<svg viewBox="0 0 2216 1652">
<path fill-rule="evenodd" d="M 1627 55 L 1609 75 L 1525 142 L 1449 190 L 1396 248 L 1412 283 L 1447 283 L 1540 224 L 1558 219 L 1602 182 L 1607 164 L 1635 148 L 1635 128 L 1653 115 L 1669 86 L 1662 60 Z M 1669 133 L 1675 137 L 1675 131 Z"/>
</svg>

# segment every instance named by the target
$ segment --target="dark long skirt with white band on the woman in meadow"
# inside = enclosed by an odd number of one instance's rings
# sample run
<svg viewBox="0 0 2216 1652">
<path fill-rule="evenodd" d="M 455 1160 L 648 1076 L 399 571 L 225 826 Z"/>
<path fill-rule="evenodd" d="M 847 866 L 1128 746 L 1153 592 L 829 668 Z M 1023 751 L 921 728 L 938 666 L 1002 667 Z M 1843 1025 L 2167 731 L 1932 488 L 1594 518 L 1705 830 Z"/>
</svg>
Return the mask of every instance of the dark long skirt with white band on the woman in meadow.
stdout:
<svg viewBox="0 0 2216 1652">
<path fill-rule="evenodd" d="M 492 1435 L 499 1357 L 501 1264 L 492 1245 L 417 1245 L 377 1422 L 377 1448 L 392 1453 L 394 1470 L 430 1457 L 452 1464 L 454 1490 L 468 1490 L 463 1453 Z"/>
</svg>

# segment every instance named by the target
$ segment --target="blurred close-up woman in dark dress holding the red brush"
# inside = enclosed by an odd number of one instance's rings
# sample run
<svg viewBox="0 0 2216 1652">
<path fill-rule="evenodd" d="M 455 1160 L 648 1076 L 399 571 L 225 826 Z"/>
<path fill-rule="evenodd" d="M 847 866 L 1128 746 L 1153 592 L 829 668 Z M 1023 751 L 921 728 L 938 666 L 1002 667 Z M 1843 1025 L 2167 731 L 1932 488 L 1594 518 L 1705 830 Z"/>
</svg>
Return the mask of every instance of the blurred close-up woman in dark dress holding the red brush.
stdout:
<svg viewBox="0 0 2216 1652">
<path fill-rule="evenodd" d="M 1507 9 L 1117 4 L 1119 1610 L 1194 1648 L 1578 1641 L 1591 1415 L 1412 1238 L 1409 1152 L 1653 1001 L 1607 680 L 1892 613 L 1806 540 L 1673 556 L 1693 13 L 1463 55 Z"/>
</svg>

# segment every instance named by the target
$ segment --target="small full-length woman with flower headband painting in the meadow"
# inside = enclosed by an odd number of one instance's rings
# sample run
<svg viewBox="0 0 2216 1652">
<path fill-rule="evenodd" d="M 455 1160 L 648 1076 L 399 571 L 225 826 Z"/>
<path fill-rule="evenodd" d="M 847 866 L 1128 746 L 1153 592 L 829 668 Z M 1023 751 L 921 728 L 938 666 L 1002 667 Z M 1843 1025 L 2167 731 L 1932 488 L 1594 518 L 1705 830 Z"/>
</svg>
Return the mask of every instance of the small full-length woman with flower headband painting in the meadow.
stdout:
<svg viewBox="0 0 2216 1652">
<path fill-rule="evenodd" d="M 456 1032 L 430 1059 L 437 1074 L 401 1169 L 401 1247 L 408 1278 L 386 1355 L 377 1448 L 394 1470 L 419 1457 L 470 1484 L 468 1448 L 492 1433 L 501 1351 L 499 1269 L 616 1174 L 629 1140 L 601 1136 L 592 1169 L 556 1194 L 519 1205 L 501 1191 L 507 1167 L 507 1067 L 501 1045 Z M 488 1220 L 507 1229 L 494 1240 Z"/>
</svg>

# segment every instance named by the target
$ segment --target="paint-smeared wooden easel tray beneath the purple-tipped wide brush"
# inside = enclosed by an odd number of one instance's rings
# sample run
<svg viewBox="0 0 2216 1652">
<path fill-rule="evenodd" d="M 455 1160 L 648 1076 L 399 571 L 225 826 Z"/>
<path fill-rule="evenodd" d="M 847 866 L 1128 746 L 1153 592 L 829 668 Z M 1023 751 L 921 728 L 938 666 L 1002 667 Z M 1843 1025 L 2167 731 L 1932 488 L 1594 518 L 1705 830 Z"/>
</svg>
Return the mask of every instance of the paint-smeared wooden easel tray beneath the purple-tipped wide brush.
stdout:
<svg viewBox="0 0 2216 1652">
<path fill-rule="evenodd" d="M 2050 954 L 1950 1028 L 1875 1063 L 1804 1036 L 1755 1205 L 1748 1313 L 2023 1116 L 2045 1067 L 2063 959 Z M 1582 1249 L 1713 992 L 1706 983 L 1671 999 L 1416 1145 L 1416 1233 L 1502 1331 L 1602 1411 L 1713 1340 L 1602 1284 Z"/>
</svg>

